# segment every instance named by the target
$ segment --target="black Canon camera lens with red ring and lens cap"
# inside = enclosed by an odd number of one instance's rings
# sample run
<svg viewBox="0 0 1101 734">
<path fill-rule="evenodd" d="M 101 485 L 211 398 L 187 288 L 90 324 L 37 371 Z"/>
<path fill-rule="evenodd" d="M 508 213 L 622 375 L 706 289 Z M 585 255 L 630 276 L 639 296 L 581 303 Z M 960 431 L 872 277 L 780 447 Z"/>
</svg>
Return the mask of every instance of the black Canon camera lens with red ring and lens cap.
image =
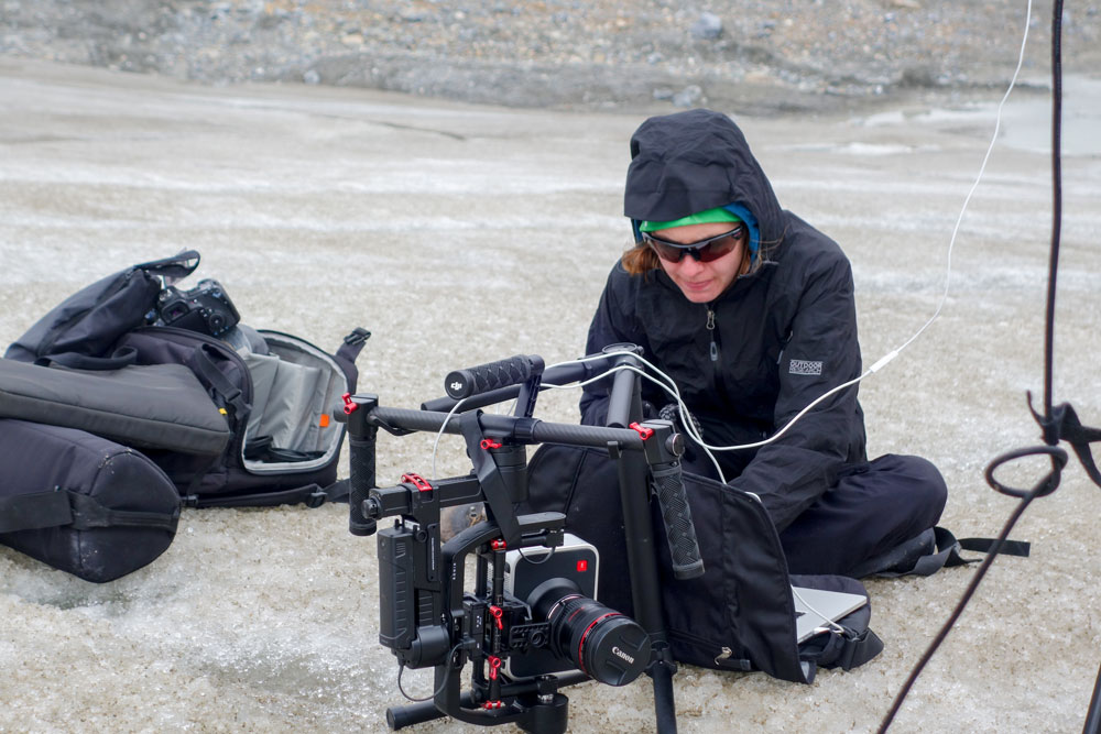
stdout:
<svg viewBox="0 0 1101 734">
<path fill-rule="evenodd" d="M 609 686 L 625 686 L 650 665 L 650 635 L 631 617 L 580 593 L 568 579 L 549 579 L 528 601 L 549 624 L 548 648 Z"/>
</svg>

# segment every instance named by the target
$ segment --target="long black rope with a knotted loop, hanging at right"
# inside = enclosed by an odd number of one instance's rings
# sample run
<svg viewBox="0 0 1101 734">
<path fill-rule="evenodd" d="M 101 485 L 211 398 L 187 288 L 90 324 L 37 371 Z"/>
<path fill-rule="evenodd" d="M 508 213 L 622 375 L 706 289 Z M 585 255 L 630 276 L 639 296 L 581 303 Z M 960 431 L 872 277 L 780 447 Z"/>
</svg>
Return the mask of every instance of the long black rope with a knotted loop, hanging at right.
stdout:
<svg viewBox="0 0 1101 734">
<path fill-rule="evenodd" d="M 996 457 L 986 467 L 986 482 L 998 492 L 1002 494 L 1007 494 L 1010 496 L 1015 496 L 1021 500 L 1013 514 L 1006 521 L 1005 526 L 1002 528 L 1001 534 L 998 536 L 998 540 L 991 547 L 990 551 L 986 554 L 986 558 L 979 566 L 979 570 L 975 571 L 974 578 L 971 579 L 971 583 L 968 584 L 967 590 L 957 603 L 956 609 L 952 610 L 951 615 L 948 621 L 945 622 L 937 636 L 929 644 L 922 659 L 918 660 L 917 665 L 911 671 L 909 677 L 903 684 L 902 690 L 895 697 L 894 702 L 891 705 L 891 710 L 883 717 L 883 722 L 880 724 L 879 733 L 883 734 L 891 726 L 894 721 L 895 715 L 902 708 L 903 701 L 905 701 L 906 695 L 909 693 L 914 683 L 917 681 L 918 676 L 925 669 L 925 666 L 933 659 L 937 649 L 948 637 L 948 633 L 951 632 L 956 622 L 959 620 L 963 610 L 967 607 L 968 602 L 974 595 L 975 590 L 982 582 L 983 578 L 986 576 L 986 571 L 990 569 L 994 559 L 998 557 L 998 551 L 1002 544 L 1009 537 L 1010 533 L 1013 530 L 1014 525 L 1024 514 L 1025 508 L 1032 503 L 1036 497 L 1046 496 L 1055 492 L 1059 486 L 1059 480 L 1061 476 L 1061 470 L 1067 463 L 1067 452 L 1058 447 L 1060 440 L 1060 421 L 1056 421 L 1054 417 L 1053 399 L 1051 399 L 1051 385 L 1053 385 L 1053 365 L 1054 365 L 1054 353 L 1055 353 L 1055 295 L 1057 286 L 1057 276 L 1059 271 L 1059 242 L 1061 238 L 1061 223 L 1062 223 L 1062 0 L 1055 0 L 1054 7 L 1051 9 L 1051 189 L 1053 189 L 1053 223 L 1051 223 L 1051 243 L 1050 243 L 1050 255 L 1048 262 L 1048 281 L 1047 281 L 1047 317 L 1045 324 L 1044 332 L 1044 416 L 1040 419 L 1038 416 L 1037 420 L 1040 423 L 1043 428 L 1044 441 L 1046 446 L 1042 447 L 1031 447 L 1025 449 L 1017 449 L 1014 451 L 1005 452 Z M 1061 406 L 1060 406 L 1061 407 Z M 1069 407 L 1069 406 L 1067 406 Z M 1035 415 L 1035 414 L 1034 414 Z M 1076 445 L 1076 449 L 1077 449 Z M 1036 483 L 1028 491 L 1016 490 L 1006 486 L 999 482 L 994 478 L 994 470 L 1001 467 L 1003 463 L 1021 459 L 1026 456 L 1046 454 L 1050 457 L 1051 460 L 1051 471 Z M 1099 673 L 1098 684 L 1101 686 L 1101 673 Z"/>
</svg>

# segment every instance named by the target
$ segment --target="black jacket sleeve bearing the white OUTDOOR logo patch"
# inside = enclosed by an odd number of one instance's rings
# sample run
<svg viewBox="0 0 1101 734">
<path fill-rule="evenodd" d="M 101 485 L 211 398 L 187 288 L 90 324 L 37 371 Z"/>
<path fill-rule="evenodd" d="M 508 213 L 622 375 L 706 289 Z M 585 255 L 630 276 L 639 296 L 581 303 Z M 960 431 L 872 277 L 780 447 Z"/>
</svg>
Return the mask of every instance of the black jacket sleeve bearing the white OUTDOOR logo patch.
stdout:
<svg viewBox="0 0 1101 734">
<path fill-rule="evenodd" d="M 777 370 L 776 431 L 821 395 L 860 374 L 852 273 L 843 255 L 810 274 Z M 730 484 L 760 496 L 777 530 L 783 530 L 837 482 L 853 440 L 860 441 L 862 453 L 857 385 L 825 398 L 759 449 Z"/>
</svg>

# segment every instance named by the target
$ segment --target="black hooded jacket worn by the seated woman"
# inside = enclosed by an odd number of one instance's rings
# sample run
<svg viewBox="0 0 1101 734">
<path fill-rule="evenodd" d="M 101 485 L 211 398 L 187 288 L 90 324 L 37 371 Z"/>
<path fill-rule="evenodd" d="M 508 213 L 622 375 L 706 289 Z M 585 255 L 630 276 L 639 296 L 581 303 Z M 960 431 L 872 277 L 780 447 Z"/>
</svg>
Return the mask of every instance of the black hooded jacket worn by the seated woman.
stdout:
<svg viewBox="0 0 1101 734">
<path fill-rule="evenodd" d="M 712 446 L 761 441 L 860 374 L 849 261 L 837 243 L 781 209 L 730 118 L 708 110 L 651 118 L 631 139 L 631 155 L 624 213 L 635 231 L 640 220 L 737 205 L 756 252 L 749 273 L 710 304 L 689 302 L 661 269 L 630 275 L 617 264 L 589 327 L 588 353 L 615 342 L 641 346 L 676 381 Z M 645 385 L 651 403 L 673 402 Z M 603 423 L 603 388 L 586 390 L 582 423 Z M 857 386 L 826 398 L 764 447 L 716 456 L 728 482 L 757 494 L 782 530 L 836 483 L 843 464 L 866 459 Z"/>
</svg>

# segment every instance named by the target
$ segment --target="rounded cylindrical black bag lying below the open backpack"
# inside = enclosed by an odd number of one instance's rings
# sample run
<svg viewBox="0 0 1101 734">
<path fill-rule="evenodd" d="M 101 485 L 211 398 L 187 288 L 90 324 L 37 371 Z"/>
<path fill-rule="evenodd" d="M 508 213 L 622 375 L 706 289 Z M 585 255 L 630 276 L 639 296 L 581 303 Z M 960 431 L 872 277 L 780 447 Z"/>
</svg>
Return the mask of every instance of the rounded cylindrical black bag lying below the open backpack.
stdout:
<svg viewBox="0 0 1101 734">
<path fill-rule="evenodd" d="M 179 496 L 133 449 L 0 419 L 0 544 L 87 581 L 111 581 L 172 543 Z"/>
</svg>

